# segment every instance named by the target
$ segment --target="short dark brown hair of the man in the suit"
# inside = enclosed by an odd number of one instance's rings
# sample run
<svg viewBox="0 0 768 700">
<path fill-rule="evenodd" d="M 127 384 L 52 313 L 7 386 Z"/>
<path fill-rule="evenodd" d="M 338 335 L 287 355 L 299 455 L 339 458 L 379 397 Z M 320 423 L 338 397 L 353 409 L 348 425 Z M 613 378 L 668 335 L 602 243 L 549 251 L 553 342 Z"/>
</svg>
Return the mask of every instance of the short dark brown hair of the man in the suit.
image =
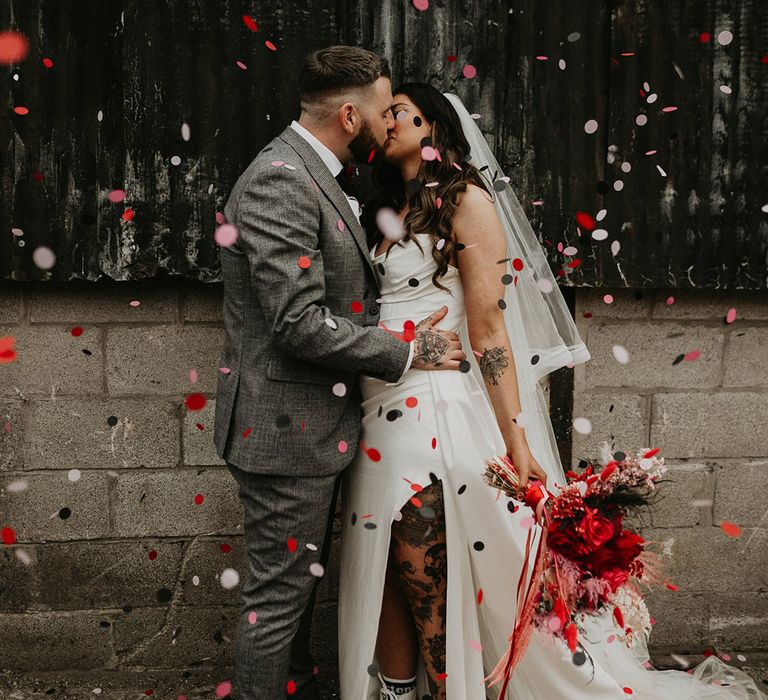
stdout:
<svg viewBox="0 0 768 700">
<path fill-rule="evenodd" d="M 301 108 L 313 116 L 330 116 L 334 98 L 391 78 L 386 58 L 357 46 L 327 46 L 304 59 L 299 74 Z"/>
</svg>

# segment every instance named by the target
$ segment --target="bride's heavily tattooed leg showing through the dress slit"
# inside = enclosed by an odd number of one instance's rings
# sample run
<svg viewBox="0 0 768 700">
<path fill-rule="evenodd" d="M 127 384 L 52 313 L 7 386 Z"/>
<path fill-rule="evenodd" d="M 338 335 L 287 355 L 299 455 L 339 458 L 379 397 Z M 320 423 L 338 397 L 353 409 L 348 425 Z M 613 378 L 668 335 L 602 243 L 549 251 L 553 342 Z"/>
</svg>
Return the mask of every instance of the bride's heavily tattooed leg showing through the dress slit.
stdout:
<svg viewBox="0 0 768 700">
<path fill-rule="evenodd" d="M 409 502 L 402 519 L 392 524 L 392 551 L 416 624 L 430 693 L 444 700 L 448 557 L 441 482 L 433 480 L 419 491 L 418 499 L 420 508 Z"/>
</svg>

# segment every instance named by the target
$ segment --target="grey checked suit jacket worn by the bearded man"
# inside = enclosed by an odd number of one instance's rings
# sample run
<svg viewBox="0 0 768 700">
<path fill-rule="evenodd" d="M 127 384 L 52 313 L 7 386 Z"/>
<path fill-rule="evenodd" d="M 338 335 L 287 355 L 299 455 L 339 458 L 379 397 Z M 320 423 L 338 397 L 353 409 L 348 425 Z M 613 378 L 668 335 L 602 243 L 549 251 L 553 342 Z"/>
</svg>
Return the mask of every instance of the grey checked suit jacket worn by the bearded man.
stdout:
<svg viewBox="0 0 768 700">
<path fill-rule="evenodd" d="M 224 215 L 239 237 L 220 248 L 219 366 L 230 371 L 218 377 L 216 451 L 249 472 L 340 472 L 359 440 L 358 373 L 395 382 L 409 351 L 377 327 L 363 228 L 328 167 L 291 127 L 243 172 Z M 333 391 L 339 382 L 343 396 Z"/>
</svg>

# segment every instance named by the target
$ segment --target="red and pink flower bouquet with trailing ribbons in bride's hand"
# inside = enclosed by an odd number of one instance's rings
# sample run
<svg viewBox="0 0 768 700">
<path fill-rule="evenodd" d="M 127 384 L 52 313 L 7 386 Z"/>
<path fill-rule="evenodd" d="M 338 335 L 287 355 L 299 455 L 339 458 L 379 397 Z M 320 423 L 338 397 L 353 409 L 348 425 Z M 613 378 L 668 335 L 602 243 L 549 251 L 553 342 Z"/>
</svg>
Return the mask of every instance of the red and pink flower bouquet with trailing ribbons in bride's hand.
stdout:
<svg viewBox="0 0 768 700">
<path fill-rule="evenodd" d="M 650 631 L 638 585 L 661 580 L 660 561 L 646 550 L 640 535 L 623 527 L 623 518 L 651 503 L 656 483 L 666 472 L 658 452 L 643 450 L 634 457 L 617 452 L 601 469 L 588 464 L 580 475 L 568 471 L 568 483 L 557 495 L 535 478 L 529 482 L 523 500 L 534 511 L 542 534 L 526 586 L 533 527 L 529 529 L 510 647 L 488 676 L 491 685 L 504 680 L 500 697 L 505 697 L 534 627 L 564 639 L 575 663 L 586 660 L 584 652 L 577 651 L 579 616 L 612 609 L 628 645 L 633 634 Z M 488 460 L 483 478 L 518 498 L 519 475 L 506 455 Z"/>
</svg>

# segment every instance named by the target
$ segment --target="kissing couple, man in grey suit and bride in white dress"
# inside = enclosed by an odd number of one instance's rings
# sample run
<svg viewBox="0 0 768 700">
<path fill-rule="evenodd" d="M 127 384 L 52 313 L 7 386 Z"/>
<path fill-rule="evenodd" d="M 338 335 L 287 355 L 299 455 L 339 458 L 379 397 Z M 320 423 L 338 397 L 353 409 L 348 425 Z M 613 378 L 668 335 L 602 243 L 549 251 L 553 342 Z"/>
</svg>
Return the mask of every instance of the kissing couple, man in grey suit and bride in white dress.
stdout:
<svg viewBox="0 0 768 700">
<path fill-rule="evenodd" d="M 508 455 L 523 487 L 566 483 L 539 380 L 589 353 L 456 95 L 393 90 L 386 59 L 331 46 L 306 57 L 299 98 L 224 209 L 215 444 L 248 561 L 236 687 L 319 697 L 310 626 L 341 488 L 342 700 L 495 700 L 530 513 L 484 483 L 485 460 Z M 364 207 L 355 162 L 375 164 Z M 585 628 L 590 664 L 534 630 L 507 698 L 761 697 L 646 670 L 610 615 Z"/>
</svg>

